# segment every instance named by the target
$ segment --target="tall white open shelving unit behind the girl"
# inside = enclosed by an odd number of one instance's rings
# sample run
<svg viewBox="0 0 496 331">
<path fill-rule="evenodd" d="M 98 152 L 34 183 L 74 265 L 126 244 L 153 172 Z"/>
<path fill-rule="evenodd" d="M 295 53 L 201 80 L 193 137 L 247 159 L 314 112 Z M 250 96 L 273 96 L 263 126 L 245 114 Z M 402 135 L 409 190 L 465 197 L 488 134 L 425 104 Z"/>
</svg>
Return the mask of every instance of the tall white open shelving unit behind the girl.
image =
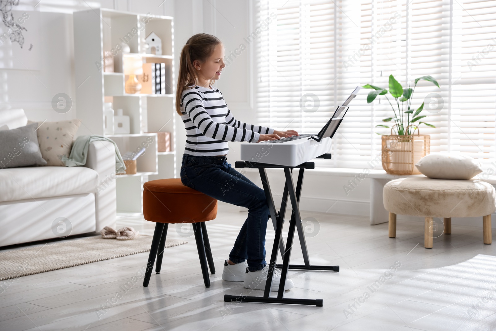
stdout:
<svg viewBox="0 0 496 331">
<path fill-rule="evenodd" d="M 73 21 L 77 118 L 82 121 L 78 135 L 107 136 L 122 155 L 145 147 L 136 161 L 137 173 L 117 175 L 116 180 L 118 212 L 142 212 L 143 183 L 177 177 L 173 18 L 94 8 L 74 12 Z M 145 53 L 144 39 L 152 31 L 162 40 L 163 55 Z M 129 53 L 120 51 L 123 43 Z M 104 51 L 112 52 L 115 72 L 104 72 Z M 126 57 L 140 58 L 143 66 L 165 63 L 165 94 L 125 93 Z M 116 114 L 123 109 L 129 116 L 129 134 L 105 134 L 105 102 L 112 102 Z M 153 132 L 171 132 L 172 151 L 158 152 Z"/>
</svg>

